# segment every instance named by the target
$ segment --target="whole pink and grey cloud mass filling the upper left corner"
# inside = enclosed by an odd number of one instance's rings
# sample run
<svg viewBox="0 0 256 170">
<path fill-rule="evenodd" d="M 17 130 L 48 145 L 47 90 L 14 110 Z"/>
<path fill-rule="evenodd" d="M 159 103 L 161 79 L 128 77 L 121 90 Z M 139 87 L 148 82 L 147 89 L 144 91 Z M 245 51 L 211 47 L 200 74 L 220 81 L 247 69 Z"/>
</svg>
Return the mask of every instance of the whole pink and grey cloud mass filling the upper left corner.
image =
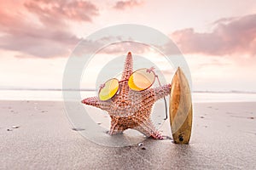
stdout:
<svg viewBox="0 0 256 170">
<path fill-rule="evenodd" d="M 17 9 L 18 10 L 18 9 Z M 42 58 L 67 56 L 80 41 L 68 23 L 90 22 L 97 14 L 83 1 L 29 1 L 20 10 L 0 10 L 0 48 Z"/>
</svg>

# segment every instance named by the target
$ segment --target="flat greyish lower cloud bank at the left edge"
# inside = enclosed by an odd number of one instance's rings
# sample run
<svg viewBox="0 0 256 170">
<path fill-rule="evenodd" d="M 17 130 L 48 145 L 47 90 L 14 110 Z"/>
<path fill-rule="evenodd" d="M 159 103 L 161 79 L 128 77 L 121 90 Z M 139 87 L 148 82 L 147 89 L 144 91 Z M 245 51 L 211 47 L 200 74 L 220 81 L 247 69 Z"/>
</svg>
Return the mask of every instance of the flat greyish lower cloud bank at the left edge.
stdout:
<svg viewBox="0 0 256 170">
<path fill-rule="evenodd" d="M 38 32 L 42 31 L 41 35 Z M 66 31 L 52 34 L 47 30 L 32 30 L 30 35 L 16 34 L 1 37 L 0 47 L 8 50 L 19 51 L 36 57 L 63 57 L 79 42 L 79 38 Z M 52 34 L 52 35 L 51 35 Z M 34 36 L 33 36 L 34 35 Z M 22 55 L 20 55 L 21 57 Z"/>
</svg>

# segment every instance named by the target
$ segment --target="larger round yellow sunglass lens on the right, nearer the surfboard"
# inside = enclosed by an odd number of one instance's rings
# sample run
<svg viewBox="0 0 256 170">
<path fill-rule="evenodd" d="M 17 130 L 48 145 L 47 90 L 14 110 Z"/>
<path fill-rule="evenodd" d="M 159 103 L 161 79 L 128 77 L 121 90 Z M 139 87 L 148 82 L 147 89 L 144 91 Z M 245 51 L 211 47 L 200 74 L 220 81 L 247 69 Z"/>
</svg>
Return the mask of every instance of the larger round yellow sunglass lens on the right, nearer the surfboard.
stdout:
<svg viewBox="0 0 256 170">
<path fill-rule="evenodd" d="M 140 69 L 131 74 L 128 85 L 132 90 L 142 91 L 154 83 L 154 72 Z"/>
</svg>

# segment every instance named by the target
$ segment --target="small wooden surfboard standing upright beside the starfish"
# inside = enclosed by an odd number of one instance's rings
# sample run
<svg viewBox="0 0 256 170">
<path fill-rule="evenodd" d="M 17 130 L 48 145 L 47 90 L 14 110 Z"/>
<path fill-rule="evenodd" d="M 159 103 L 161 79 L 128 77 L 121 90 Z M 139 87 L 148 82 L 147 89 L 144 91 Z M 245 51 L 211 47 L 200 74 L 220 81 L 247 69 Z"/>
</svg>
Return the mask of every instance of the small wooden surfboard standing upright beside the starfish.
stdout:
<svg viewBox="0 0 256 170">
<path fill-rule="evenodd" d="M 189 82 L 179 67 L 172 78 L 169 114 L 174 143 L 189 144 L 193 115 L 192 99 Z"/>
</svg>

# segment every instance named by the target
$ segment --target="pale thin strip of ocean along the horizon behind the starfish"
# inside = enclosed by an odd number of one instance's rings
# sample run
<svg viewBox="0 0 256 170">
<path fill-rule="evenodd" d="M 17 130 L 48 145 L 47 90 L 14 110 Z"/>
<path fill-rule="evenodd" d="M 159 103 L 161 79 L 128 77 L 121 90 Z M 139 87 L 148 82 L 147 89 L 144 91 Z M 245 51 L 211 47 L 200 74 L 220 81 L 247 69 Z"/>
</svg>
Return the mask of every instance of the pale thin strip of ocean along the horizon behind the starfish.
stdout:
<svg viewBox="0 0 256 170">
<path fill-rule="evenodd" d="M 73 91 L 70 91 L 72 93 Z M 82 98 L 95 96 L 96 91 L 81 91 Z M 195 103 L 206 102 L 256 102 L 256 93 L 246 92 L 193 92 Z M 0 100 L 48 100 L 63 101 L 61 90 L 0 89 Z"/>
</svg>

